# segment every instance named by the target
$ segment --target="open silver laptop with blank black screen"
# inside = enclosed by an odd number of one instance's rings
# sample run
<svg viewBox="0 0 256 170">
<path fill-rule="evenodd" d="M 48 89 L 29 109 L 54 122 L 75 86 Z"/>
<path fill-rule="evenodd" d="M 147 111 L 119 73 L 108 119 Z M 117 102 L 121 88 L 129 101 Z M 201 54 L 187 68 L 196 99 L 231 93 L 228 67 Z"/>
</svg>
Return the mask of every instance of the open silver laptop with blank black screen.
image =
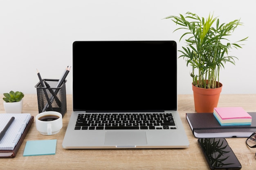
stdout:
<svg viewBox="0 0 256 170">
<path fill-rule="evenodd" d="M 73 112 L 63 148 L 187 148 L 175 41 L 73 42 Z"/>
</svg>

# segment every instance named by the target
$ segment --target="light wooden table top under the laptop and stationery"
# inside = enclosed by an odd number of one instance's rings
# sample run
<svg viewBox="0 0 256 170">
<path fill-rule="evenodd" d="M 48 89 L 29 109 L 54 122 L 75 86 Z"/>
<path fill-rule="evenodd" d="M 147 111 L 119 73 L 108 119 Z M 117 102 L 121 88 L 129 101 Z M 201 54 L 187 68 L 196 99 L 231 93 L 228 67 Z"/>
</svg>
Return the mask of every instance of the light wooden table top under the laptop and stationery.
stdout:
<svg viewBox="0 0 256 170">
<path fill-rule="evenodd" d="M 0 95 L 2 98 L 3 95 Z M 241 106 L 247 112 L 256 112 L 256 94 L 220 95 L 219 107 Z M 63 117 L 63 128 L 52 136 L 41 135 L 32 124 L 15 158 L 0 159 L 1 170 L 205 170 L 209 169 L 206 160 L 186 121 L 186 113 L 195 112 L 193 95 L 178 95 L 178 111 L 182 119 L 189 148 L 179 149 L 74 149 L 62 148 L 68 121 L 72 113 L 72 95 L 67 95 L 67 113 Z M 0 113 L 4 113 L 0 102 Z M 24 97 L 23 113 L 38 114 L 37 95 Z M 30 140 L 57 139 L 56 154 L 23 157 L 25 144 Z M 245 144 L 246 138 L 227 138 L 227 141 L 242 164 L 243 170 L 255 169 L 256 148 Z"/>
</svg>

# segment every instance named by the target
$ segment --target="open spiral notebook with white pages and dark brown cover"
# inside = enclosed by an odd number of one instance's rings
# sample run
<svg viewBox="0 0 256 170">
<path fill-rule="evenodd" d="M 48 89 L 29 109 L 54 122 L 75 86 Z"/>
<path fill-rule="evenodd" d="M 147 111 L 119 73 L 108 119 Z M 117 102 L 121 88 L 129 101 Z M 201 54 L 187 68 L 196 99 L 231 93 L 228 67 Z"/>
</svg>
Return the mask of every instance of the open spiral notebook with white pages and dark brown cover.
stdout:
<svg viewBox="0 0 256 170">
<path fill-rule="evenodd" d="M 11 117 L 15 119 L 0 141 L 0 157 L 15 157 L 34 121 L 30 113 L 2 113 L 0 114 L 0 131 L 4 129 Z"/>
</svg>

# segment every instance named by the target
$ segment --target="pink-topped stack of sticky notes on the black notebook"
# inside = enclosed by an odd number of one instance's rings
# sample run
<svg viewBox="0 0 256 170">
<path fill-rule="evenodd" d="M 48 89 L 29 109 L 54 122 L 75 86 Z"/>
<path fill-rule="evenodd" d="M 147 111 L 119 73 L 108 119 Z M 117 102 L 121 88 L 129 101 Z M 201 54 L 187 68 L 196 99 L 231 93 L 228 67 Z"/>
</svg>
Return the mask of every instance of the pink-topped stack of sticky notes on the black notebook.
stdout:
<svg viewBox="0 0 256 170">
<path fill-rule="evenodd" d="M 242 107 L 213 108 L 213 115 L 221 126 L 251 125 L 252 116 Z"/>
</svg>

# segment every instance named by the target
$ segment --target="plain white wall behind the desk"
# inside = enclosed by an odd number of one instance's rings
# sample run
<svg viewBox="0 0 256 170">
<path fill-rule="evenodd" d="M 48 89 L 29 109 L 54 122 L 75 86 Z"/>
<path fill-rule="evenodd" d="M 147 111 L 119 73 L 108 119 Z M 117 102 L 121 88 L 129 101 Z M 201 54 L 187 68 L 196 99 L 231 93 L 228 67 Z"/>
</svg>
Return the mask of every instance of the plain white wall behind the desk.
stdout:
<svg viewBox="0 0 256 170">
<path fill-rule="evenodd" d="M 36 94 L 36 69 L 43 79 L 61 77 L 76 40 L 175 40 L 179 50 L 181 33 L 163 18 L 190 11 L 214 12 L 221 22 L 241 18 L 234 41 L 249 39 L 230 53 L 239 60 L 221 72 L 222 94 L 255 94 L 255 7 L 255 0 L 0 0 L 0 93 Z M 189 74 L 178 59 L 178 94 L 192 94 Z M 66 88 L 72 94 L 72 71 Z"/>
</svg>

